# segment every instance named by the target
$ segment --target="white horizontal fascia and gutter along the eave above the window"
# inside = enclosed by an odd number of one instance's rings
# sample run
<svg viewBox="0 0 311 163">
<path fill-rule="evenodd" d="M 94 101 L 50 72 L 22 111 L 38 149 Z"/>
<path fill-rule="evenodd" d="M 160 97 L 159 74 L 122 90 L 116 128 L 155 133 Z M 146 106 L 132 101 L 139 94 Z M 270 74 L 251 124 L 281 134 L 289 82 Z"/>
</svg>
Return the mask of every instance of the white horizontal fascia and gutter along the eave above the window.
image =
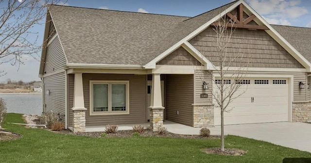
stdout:
<svg viewBox="0 0 311 163">
<path fill-rule="evenodd" d="M 67 67 L 67 69 L 69 69 L 69 68 L 143 69 L 143 67 L 140 65 L 80 64 L 80 63 L 69 63 L 66 65 L 66 67 Z"/>
</svg>

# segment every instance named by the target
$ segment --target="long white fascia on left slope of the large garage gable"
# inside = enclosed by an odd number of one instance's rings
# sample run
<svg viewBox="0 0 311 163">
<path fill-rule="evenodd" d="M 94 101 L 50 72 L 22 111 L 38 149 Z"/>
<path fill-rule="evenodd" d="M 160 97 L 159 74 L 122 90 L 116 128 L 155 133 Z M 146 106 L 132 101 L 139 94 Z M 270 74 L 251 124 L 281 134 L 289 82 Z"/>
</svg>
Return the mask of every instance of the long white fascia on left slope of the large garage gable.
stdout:
<svg viewBox="0 0 311 163">
<path fill-rule="evenodd" d="M 223 12 L 221 12 L 219 15 L 217 15 L 216 17 L 210 19 L 209 21 L 207 21 L 205 24 L 203 24 L 202 26 L 200 26 L 199 28 L 197 28 L 196 30 L 194 30 L 193 32 L 191 32 L 188 36 L 184 37 L 183 39 L 181 39 L 180 41 L 178 41 L 176 44 L 174 44 L 171 48 L 169 48 L 168 50 L 166 50 L 165 52 L 163 52 L 162 54 L 158 55 L 157 57 L 155 57 L 155 59 L 153 59 L 152 61 L 150 61 L 149 63 L 147 63 L 146 65 L 144 65 L 144 67 L 150 68 L 150 69 L 155 69 L 155 63 L 160 61 L 161 59 L 163 59 L 165 56 L 167 56 L 168 54 L 172 53 L 174 50 L 176 50 L 178 47 L 180 47 L 182 44 L 184 44 L 186 41 L 189 41 L 191 38 L 193 38 L 194 36 L 198 35 L 199 33 L 201 33 L 202 31 L 204 31 L 211 23 L 215 22 L 216 20 L 222 18 L 223 16 L 225 16 L 225 14 L 233 9 L 235 9 L 239 4 L 241 4 L 243 2 L 243 0 L 239 0 L 237 1 L 235 4 L 231 5 L 230 7 L 228 7 L 227 9 L 225 9 Z"/>
</svg>

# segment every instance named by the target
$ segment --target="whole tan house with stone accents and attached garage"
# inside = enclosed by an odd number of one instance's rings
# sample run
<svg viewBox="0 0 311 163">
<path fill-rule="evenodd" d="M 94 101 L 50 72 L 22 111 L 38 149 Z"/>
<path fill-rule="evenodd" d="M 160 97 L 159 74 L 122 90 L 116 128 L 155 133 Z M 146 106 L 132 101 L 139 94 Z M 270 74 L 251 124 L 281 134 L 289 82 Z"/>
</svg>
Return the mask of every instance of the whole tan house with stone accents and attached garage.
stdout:
<svg viewBox="0 0 311 163">
<path fill-rule="evenodd" d="M 163 121 L 220 125 L 205 86 L 222 82 L 213 28 L 225 16 L 236 28 L 227 55 L 243 54 L 235 65 L 250 62 L 247 91 L 230 104 L 225 125 L 310 120 L 311 28 L 271 25 L 244 0 L 192 18 L 49 5 L 43 109 L 82 132 L 148 121 L 154 130 Z"/>
</svg>

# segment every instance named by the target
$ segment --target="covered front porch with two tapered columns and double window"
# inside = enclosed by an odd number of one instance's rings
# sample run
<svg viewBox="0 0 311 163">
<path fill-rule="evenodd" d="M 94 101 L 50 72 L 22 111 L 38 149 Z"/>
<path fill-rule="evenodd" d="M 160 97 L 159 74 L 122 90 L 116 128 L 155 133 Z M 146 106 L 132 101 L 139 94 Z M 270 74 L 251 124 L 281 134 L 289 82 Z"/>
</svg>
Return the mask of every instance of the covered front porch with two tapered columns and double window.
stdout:
<svg viewBox="0 0 311 163">
<path fill-rule="evenodd" d="M 120 130 L 145 124 L 154 131 L 168 122 L 213 126 L 213 112 L 206 106 L 211 96 L 202 84 L 202 77 L 211 77 L 190 68 L 189 72 L 163 74 L 69 74 L 67 127 L 74 132 L 100 132 L 107 124 L 120 125 Z M 206 96 L 202 98 L 201 94 Z"/>
</svg>

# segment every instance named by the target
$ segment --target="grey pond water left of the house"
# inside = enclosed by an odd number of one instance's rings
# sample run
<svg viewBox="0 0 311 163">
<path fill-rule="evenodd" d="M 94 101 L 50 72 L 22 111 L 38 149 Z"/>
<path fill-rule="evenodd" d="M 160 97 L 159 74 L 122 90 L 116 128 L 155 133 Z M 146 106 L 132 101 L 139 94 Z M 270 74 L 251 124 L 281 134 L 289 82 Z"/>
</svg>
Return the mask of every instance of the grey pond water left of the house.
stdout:
<svg viewBox="0 0 311 163">
<path fill-rule="evenodd" d="M 41 93 L 0 93 L 0 98 L 6 102 L 7 112 L 41 115 Z"/>
</svg>

